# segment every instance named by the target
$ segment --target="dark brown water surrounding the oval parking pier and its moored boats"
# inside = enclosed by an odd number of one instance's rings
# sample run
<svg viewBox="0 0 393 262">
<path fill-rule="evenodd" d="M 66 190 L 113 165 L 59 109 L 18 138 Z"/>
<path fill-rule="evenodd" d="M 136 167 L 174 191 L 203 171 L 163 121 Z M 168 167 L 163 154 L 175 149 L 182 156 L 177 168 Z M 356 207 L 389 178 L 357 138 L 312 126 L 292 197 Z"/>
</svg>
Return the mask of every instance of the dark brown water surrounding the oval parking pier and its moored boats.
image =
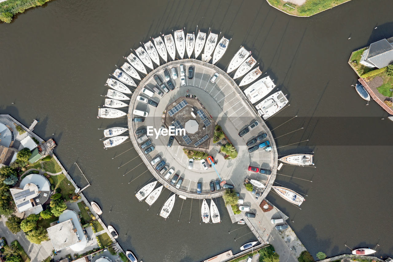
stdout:
<svg viewBox="0 0 393 262">
<path fill-rule="evenodd" d="M 128 184 L 145 166 L 137 166 L 137 158 L 118 169 L 136 153 L 112 157 L 131 143 L 104 150 L 97 130 L 125 120 L 95 117 L 103 103 L 103 84 L 129 48 L 184 26 L 222 31 L 232 41 L 221 68 L 244 45 L 288 94 L 290 106 L 268 125 L 274 128 L 298 118 L 275 129 L 274 136 L 304 127 L 278 138 L 277 145 L 309 141 L 279 148 L 279 154 L 315 152 L 317 168 L 284 166 L 280 171 L 312 183 L 277 175 L 278 183 L 308 195 L 302 209 L 274 194 L 268 199 L 294 220 L 292 228 L 312 255 L 347 253 L 344 244 L 379 244 L 378 255 L 391 256 L 393 122 L 375 102 L 365 106 L 350 87 L 356 75 L 347 60 L 351 51 L 393 36 L 392 7 L 389 0 L 353 0 L 311 18 L 296 18 L 265 1 L 55 0 L 0 25 L 0 113 L 25 125 L 39 120 L 35 132 L 43 138 L 55 133 L 55 153 L 84 186 L 73 163 L 80 164 L 92 183 L 84 194 L 101 205 L 103 220 L 118 229 L 120 244 L 135 250 L 138 258 L 199 261 L 228 249 L 236 253 L 252 234 L 247 227 L 228 234 L 240 226 L 230 223 L 222 201 L 219 225 L 199 225 L 199 203 L 191 205 L 190 199 L 184 204 L 177 199 L 171 217 L 163 221 L 156 214 L 167 190 L 149 211 L 137 202 L 134 191 L 152 176 L 144 173 Z"/>
</svg>

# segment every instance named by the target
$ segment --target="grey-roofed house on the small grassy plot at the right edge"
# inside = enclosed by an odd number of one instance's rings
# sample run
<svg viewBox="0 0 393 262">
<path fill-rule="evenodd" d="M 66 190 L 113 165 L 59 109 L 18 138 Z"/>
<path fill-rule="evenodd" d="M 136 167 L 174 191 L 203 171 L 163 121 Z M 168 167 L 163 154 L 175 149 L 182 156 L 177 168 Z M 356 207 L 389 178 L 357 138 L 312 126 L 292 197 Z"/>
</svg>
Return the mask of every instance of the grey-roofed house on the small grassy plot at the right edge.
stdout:
<svg viewBox="0 0 393 262">
<path fill-rule="evenodd" d="M 370 44 L 359 63 L 369 68 L 382 68 L 393 63 L 393 37 Z"/>
</svg>

